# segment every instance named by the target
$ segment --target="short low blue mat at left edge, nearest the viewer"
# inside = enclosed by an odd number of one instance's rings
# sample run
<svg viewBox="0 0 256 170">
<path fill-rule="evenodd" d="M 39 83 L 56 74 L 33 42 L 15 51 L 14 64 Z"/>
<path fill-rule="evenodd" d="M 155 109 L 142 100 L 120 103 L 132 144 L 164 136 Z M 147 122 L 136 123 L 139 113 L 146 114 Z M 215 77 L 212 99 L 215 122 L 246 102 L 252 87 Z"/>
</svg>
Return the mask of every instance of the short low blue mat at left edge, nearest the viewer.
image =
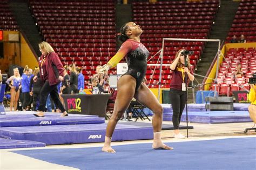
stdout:
<svg viewBox="0 0 256 170">
<path fill-rule="evenodd" d="M 24 148 L 24 147 L 45 147 L 42 142 L 29 140 L 0 139 L 0 149 Z"/>
</svg>

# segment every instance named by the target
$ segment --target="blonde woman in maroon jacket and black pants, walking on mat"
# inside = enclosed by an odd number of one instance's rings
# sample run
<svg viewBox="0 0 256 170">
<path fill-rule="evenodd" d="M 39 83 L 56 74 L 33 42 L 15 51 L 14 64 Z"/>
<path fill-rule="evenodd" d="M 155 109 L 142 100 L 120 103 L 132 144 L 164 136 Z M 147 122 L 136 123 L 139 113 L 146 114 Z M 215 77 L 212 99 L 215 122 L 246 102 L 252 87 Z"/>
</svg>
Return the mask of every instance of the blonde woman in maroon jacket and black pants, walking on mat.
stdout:
<svg viewBox="0 0 256 170">
<path fill-rule="evenodd" d="M 63 80 L 64 69 L 62 62 L 60 62 L 59 56 L 51 45 L 47 42 L 39 43 L 39 50 L 42 56 L 39 58 L 39 72 L 40 77 L 43 81 L 43 86 L 39 95 L 39 113 L 34 114 L 36 117 L 44 117 L 45 105 L 48 94 L 50 93 L 51 98 L 57 105 L 59 110 L 63 113 L 61 116 L 67 116 L 68 113 L 65 111 L 62 103 L 59 99 L 58 84 Z M 34 81 L 37 81 L 38 76 L 33 77 Z"/>
</svg>

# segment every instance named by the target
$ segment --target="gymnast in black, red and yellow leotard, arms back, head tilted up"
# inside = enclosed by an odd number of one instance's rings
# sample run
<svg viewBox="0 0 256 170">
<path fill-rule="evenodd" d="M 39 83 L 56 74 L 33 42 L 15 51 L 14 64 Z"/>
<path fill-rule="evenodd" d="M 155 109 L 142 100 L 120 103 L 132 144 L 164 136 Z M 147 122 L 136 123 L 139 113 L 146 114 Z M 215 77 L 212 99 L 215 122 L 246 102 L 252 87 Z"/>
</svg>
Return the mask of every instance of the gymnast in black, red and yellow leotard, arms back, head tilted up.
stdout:
<svg viewBox="0 0 256 170">
<path fill-rule="evenodd" d="M 119 78 L 117 83 L 117 98 L 114 104 L 113 114 L 106 127 L 105 143 L 102 148 L 103 152 L 115 153 L 111 147 L 111 138 L 117 122 L 122 118 L 123 113 L 129 107 L 134 97 L 139 103 L 150 108 L 154 115 L 152 118 L 152 126 L 154 132 L 153 145 L 154 149 L 173 149 L 161 141 L 161 125 L 163 121 L 163 107 L 150 89 L 142 83 L 145 79 L 147 69 L 147 57 L 149 51 L 140 43 L 140 35 L 142 29 L 133 22 L 126 23 L 120 29 L 118 39 L 122 42 L 122 46 L 107 64 L 100 69 L 99 76 L 103 76 L 104 71 L 115 67 L 123 57 L 126 58 L 128 71 Z"/>
</svg>

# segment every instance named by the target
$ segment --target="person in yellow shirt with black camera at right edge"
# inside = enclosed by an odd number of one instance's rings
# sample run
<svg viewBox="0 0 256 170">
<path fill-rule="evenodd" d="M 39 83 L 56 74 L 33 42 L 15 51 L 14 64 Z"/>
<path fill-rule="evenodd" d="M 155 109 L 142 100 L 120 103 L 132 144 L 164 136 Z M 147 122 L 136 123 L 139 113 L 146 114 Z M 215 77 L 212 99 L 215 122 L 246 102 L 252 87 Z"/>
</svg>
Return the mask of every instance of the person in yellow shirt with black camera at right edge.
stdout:
<svg viewBox="0 0 256 170">
<path fill-rule="evenodd" d="M 251 84 L 251 90 L 249 93 L 249 100 L 251 101 L 251 105 L 248 107 L 248 111 L 250 113 L 250 118 L 254 123 L 256 123 L 256 73 L 253 74 L 253 77 L 250 78 L 249 83 Z"/>
</svg>

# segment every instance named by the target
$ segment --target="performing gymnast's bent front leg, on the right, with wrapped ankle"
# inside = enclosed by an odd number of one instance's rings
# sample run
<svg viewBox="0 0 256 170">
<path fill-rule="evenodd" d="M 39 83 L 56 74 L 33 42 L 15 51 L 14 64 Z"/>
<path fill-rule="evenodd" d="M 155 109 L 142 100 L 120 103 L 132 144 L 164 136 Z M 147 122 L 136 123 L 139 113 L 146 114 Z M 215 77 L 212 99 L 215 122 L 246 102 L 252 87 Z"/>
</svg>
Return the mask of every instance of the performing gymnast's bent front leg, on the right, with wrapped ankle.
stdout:
<svg viewBox="0 0 256 170">
<path fill-rule="evenodd" d="M 144 83 L 142 83 L 139 86 L 139 89 L 136 91 L 134 98 L 136 98 L 139 103 L 150 108 L 150 110 L 152 110 L 154 113 L 152 119 L 152 126 L 154 131 L 152 147 L 154 149 L 173 149 L 172 147 L 163 144 L 161 141 L 160 134 L 163 121 L 163 107 L 160 105 L 156 96 L 154 96 L 150 89 Z"/>
</svg>

